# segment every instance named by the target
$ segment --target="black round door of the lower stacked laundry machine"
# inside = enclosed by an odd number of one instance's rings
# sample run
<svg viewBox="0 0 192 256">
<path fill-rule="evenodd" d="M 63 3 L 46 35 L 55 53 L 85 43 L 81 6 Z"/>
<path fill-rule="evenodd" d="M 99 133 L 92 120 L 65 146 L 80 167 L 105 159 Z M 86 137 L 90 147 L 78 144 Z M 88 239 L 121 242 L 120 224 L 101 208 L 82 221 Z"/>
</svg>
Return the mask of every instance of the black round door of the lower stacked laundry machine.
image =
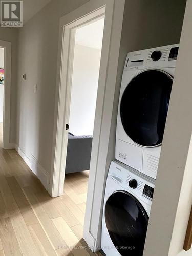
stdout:
<svg viewBox="0 0 192 256">
<path fill-rule="evenodd" d="M 105 205 L 105 223 L 110 238 L 122 256 L 142 256 L 148 216 L 130 193 L 117 191 Z"/>
</svg>

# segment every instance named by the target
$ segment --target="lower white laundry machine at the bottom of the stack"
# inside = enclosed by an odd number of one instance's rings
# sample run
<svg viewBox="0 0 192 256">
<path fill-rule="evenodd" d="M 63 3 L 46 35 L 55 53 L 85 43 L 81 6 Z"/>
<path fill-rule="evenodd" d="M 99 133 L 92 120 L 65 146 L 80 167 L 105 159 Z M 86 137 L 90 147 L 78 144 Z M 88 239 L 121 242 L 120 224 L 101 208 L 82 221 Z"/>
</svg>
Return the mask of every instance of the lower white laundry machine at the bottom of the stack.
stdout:
<svg viewBox="0 0 192 256">
<path fill-rule="evenodd" d="M 155 180 L 112 161 L 106 181 L 101 247 L 106 256 L 142 256 Z"/>
</svg>

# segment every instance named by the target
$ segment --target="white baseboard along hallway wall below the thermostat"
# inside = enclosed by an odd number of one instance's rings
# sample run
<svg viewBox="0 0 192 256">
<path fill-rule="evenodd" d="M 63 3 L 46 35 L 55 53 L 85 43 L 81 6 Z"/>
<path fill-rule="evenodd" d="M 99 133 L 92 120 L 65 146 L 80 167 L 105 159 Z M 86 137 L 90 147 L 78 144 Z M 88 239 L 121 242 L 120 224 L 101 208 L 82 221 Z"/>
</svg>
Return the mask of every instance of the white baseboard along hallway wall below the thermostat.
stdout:
<svg viewBox="0 0 192 256">
<path fill-rule="evenodd" d="M 32 172 L 37 176 L 37 178 L 40 180 L 42 185 L 46 188 L 46 190 L 49 189 L 49 180 L 50 175 L 49 173 L 40 165 L 38 160 L 31 154 L 31 158 L 29 158 L 23 150 L 15 145 L 15 150 L 18 152 L 18 154 L 23 158 L 23 160 L 26 162 L 26 164 L 29 166 L 29 168 L 32 170 Z"/>
</svg>

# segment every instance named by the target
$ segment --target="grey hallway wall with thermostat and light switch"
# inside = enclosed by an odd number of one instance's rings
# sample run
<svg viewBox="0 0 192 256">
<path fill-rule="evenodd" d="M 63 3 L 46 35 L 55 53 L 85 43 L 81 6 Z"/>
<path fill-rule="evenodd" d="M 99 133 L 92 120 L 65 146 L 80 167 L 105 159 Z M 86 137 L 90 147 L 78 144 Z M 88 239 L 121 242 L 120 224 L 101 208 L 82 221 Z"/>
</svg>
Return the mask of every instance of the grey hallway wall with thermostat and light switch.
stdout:
<svg viewBox="0 0 192 256">
<path fill-rule="evenodd" d="M 88 0 L 51 1 L 18 35 L 16 143 L 50 173 L 59 18 Z M 27 80 L 22 80 L 22 74 Z M 37 93 L 34 94 L 34 84 Z"/>
</svg>

